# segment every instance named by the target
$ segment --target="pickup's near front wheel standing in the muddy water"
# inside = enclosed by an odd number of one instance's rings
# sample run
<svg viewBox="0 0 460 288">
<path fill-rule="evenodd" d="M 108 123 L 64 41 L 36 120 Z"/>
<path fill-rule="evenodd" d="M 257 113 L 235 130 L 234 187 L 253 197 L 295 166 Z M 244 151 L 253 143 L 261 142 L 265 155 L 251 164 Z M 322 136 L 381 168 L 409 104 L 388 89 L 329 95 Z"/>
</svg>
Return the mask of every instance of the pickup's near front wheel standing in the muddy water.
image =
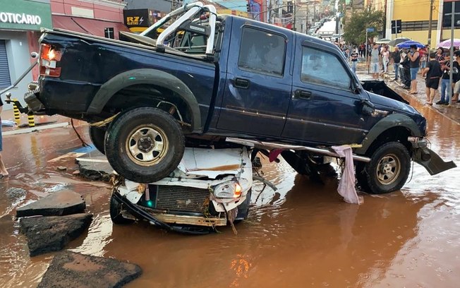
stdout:
<svg viewBox="0 0 460 288">
<path fill-rule="evenodd" d="M 358 171 L 359 170 L 359 171 Z M 372 194 L 389 193 L 401 189 L 411 172 L 411 157 L 407 148 L 398 142 L 377 148 L 370 162 L 356 166 L 358 184 Z"/>
</svg>

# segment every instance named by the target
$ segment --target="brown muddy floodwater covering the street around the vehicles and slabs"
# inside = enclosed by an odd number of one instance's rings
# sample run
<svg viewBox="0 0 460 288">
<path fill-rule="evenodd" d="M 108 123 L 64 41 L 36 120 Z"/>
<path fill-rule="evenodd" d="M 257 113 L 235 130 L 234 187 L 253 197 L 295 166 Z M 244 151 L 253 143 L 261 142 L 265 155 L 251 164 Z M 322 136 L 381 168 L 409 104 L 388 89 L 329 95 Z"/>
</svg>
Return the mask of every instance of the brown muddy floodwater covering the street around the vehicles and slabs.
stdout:
<svg viewBox="0 0 460 288">
<path fill-rule="evenodd" d="M 429 122 L 432 150 L 460 163 L 460 125 L 412 103 Z M 85 134 L 85 127 L 78 127 Z M 87 136 L 86 136 L 86 139 Z M 89 141 L 89 140 L 88 140 Z M 256 187 L 248 221 L 207 236 L 164 232 L 147 223 L 114 225 L 109 187 L 72 176 L 73 160 L 49 162 L 75 150 L 71 128 L 4 137 L 13 175 L 0 183 L 0 287 L 36 287 L 54 253 L 30 258 L 15 208 L 61 189 L 85 196 L 94 220 L 72 251 L 137 263 L 143 275 L 126 287 L 458 287 L 459 168 L 430 176 L 414 164 L 401 191 L 344 203 L 335 178 L 325 185 L 284 162 L 265 163 L 279 188 Z M 56 171 L 68 167 L 67 172 Z M 9 187 L 26 192 L 6 193 Z"/>
</svg>

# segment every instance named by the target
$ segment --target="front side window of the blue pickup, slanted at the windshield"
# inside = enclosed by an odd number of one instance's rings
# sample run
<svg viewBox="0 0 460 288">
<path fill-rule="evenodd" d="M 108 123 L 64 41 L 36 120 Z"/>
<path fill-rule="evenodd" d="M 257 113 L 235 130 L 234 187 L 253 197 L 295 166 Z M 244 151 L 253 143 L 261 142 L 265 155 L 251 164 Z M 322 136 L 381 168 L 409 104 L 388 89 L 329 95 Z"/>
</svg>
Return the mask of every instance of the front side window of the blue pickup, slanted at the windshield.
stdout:
<svg viewBox="0 0 460 288">
<path fill-rule="evenodd" d="M 302 47 L 301 81 L 339 89 L 349 89 L 351 85 L 341 59 L 310 47 Z"/>
</svg>

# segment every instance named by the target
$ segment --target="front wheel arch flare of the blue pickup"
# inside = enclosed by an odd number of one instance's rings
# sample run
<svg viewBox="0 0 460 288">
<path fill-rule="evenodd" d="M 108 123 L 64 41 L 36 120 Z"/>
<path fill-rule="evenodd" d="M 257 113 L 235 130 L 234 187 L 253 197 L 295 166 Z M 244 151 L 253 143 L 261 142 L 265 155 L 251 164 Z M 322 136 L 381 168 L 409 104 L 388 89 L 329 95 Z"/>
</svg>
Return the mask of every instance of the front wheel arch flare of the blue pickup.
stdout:
<svg viewBox="0 0 460 288">
<path fill-rule="evenodd" d="M 361 142 L 363 147 L 356 148 L 354 152 L 358 155 L 369 155 L 371 152 L 370 148 L 375 146 L 375 141 L 387 131 L 399 130 L 404 128 L 408 131 L 408 136 L 415 136 L 415 137 L 423 137 L 423 134 L 420 132 L 415 121 L 413 121 L 410 117 L 404 114 L 390 114 L 386 116 L 384 119 L 380 120 L 370 129 L 368 134 L 365 136 L 364 140 Z M 396 135 L 394 137 L 397 137 Z M 394 139 L 396 140 L 396 139 Z M 407 142 L 407 138 L 398 139 L 402 143 Z"/>
</svg>

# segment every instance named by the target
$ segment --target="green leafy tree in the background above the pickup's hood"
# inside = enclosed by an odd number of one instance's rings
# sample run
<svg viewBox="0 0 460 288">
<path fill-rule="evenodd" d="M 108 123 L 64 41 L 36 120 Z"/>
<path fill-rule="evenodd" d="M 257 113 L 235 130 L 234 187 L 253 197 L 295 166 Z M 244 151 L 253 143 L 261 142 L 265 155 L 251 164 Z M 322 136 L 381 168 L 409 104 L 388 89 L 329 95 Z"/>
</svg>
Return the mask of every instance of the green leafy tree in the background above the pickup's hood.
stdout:
<svg viewBox="0 0 460 288">
<path fill-rule="evenodd" d="M 366 28 L 373 27 L 375 32 L 369 32 L 368 37 L 378 35 L 377 31 L 383 30 L 385 13 L 383 11 L 365 10 L 353 13 L 344 27 L 344 40 L 351 44 L 360 44 L 365 41 Z"/>
</svg>

